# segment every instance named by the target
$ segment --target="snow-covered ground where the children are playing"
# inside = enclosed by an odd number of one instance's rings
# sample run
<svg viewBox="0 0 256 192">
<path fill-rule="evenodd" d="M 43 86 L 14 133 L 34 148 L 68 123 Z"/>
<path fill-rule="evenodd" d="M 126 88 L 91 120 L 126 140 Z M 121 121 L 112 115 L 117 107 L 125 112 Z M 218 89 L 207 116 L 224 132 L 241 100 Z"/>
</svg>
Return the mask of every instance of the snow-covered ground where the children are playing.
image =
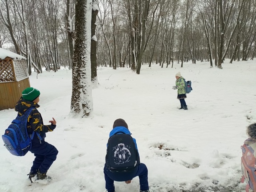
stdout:
<svg viewBox="0 0 256 192">
<path fill-rule="evenodd" d="M 69 116 L 72 71 L 32 73 L 30 85 L 40 90 L 44 124 L 54 117 L 57 127 L 46 141 L 59 151 L 48 170 L 48 185 L 32 184 L 33 154 L 11 155 L 0 145 L 0 192 L 104 192 L 103 167 L 108 134 L 114 120 L 123 118 L 136 138 L 140 161 L 148 167 L 150 192 L 243 192 L 240 184 L 240 146 L 246 127 L 256 122 L 256 61 L 240 61 L 223 69 L 209 62 L 175 63 L 174 68 L 143 65 L 140 75 L 127 68 L 98 68 L 94 112 Z M 175 74 L 192 81 L 188 110 L 180 107 Z M 1 90 L 2 91 L 2 90 Z M 14 109 L 0 111 L 0 130 L 16 117 Z M 116 192 L 139 192 L 115 182 Z"/>
</svg>

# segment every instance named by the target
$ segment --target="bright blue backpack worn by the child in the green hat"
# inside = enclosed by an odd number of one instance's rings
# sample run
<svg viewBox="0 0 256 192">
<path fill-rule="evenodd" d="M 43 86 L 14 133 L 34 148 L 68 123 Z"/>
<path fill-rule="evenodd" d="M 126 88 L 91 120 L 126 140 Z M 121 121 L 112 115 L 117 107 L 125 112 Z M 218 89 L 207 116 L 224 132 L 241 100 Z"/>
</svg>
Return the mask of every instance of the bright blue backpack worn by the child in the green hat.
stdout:
<svg viewBox="0 0 256 192">
<path fill-rule="evenodd" d="M 31 140 L 34 138 L 35 132 L 33 131 L 31 138 L 28 136 L 27 122 L 33 109 L 28 108 L 24 115 L 17 115 L 2 135 L 4 146 L 15 156 L 24 156 L 31 149 Z M 40 134 L 38 132 L 36 134 L 41 139 Z"/>
</svg>

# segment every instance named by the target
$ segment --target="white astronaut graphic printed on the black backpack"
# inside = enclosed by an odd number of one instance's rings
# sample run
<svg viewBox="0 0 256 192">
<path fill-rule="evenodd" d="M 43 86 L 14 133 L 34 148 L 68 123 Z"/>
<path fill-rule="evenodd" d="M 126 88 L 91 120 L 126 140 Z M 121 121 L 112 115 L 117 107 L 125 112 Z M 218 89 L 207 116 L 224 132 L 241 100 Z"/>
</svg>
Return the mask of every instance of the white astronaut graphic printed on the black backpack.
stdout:
<svg viewBox="0 0 256 192">
<path fill-rule="evenodd" d="M 114 162 L 116 164 L 123 164 L 125 162 L 129 162 L 129 158 L 131 156 L 131 152 L 124 146 L 123 143 L 119 143 L 116 146 L 116 150 L 114 152 Z"/>
</svg>

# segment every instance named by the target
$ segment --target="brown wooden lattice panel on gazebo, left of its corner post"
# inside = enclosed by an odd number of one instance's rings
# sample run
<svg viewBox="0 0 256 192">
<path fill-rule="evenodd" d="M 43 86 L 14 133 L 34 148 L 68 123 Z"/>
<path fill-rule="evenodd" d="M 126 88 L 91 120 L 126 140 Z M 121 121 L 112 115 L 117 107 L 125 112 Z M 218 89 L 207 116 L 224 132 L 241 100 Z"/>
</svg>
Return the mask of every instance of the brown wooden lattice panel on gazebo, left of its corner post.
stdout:
<svg viewBox="0 0 256 192">
<path fill-rule="evenodd" d="M 14 81 L 12 59 L 0 60 L 0 82 Z"/>
</svg>

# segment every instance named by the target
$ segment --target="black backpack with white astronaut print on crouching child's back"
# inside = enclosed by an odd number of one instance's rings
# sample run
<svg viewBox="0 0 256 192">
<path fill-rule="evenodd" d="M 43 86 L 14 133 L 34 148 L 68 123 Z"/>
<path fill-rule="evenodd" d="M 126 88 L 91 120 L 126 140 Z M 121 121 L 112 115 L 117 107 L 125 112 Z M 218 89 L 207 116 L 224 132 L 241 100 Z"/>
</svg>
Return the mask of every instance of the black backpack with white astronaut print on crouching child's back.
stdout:
<svg viewBox="0 0 256 192">
<path fill-rule="evenodd" d="M 140 156 L 132 136 L 116 132 L 108 139 L 106 166 L 111 172 L 133 171 L 139 164 Z"/>
</svg>

